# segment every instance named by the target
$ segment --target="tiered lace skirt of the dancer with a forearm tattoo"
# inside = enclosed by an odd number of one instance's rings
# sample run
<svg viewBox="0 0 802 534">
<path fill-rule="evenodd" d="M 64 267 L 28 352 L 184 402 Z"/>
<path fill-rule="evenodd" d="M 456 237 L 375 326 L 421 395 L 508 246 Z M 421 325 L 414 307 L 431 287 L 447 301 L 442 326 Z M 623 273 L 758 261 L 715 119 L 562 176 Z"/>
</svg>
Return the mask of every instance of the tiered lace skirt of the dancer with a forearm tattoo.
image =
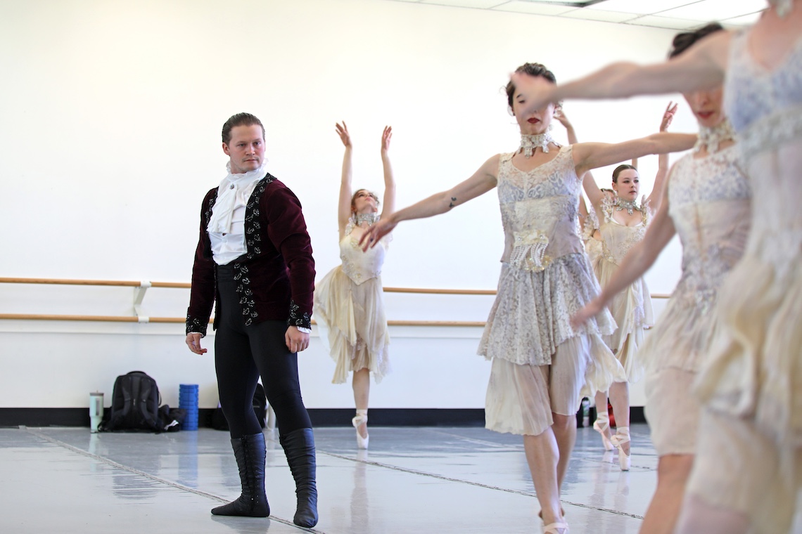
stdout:
<svg viewBox="0 0 802 534">
<path fill-rule="evenodd" d="M 492 359 L 485 426 L 537 436 L 552 412 L 573 416 L 581 396 L 626 380 L 602 341 L 615 323 L 605 311 L 574 329 L 570 317 L 598 294 L 584 254 L 555 259 L 544 271 L 504 263 L 478 353 Z"/>
</svg>

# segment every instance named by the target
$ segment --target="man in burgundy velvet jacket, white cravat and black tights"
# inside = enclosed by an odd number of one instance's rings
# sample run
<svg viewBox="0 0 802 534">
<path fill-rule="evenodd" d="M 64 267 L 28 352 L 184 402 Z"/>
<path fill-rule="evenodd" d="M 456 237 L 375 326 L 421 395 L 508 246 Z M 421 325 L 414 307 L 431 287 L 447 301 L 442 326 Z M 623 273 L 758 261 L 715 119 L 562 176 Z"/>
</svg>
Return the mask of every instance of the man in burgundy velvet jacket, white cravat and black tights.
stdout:
<svg viewBox="0 0 802 534">
<path fill-rule="evenodd" d="M 278 440 L 295 479 L 294 524 L 318 522 L 314 434 L 298 383 L 309 347 L 314 259 L 298 198 L 266 169 L 265 127 L 248 113 L 223 125 L 229 174 L 206 194 L 187 311 L 189 350 L 204 354 L 212 307 L 217 389 L 242 493 L 216 516 L 267 517 L 265 435 L 253 413 L 261 376 L 276 412 Z"/>
</svg>

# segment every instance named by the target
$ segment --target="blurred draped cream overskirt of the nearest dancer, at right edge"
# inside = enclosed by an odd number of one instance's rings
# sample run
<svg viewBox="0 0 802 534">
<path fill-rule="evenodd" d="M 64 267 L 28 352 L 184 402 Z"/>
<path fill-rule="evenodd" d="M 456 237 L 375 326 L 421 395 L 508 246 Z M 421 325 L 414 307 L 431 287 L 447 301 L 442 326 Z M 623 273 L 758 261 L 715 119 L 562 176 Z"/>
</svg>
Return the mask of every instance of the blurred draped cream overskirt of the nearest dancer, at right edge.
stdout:
<svg viewBox="0 0 802 534">
<path fill-rule="evenodd" d="M 718 331 L 696 391 L 715 411 L 802 446 L 802 231 L 763 236 L 719 291 Z M 771 249 L 771 250 L 769 250 Z"/>
</svg>

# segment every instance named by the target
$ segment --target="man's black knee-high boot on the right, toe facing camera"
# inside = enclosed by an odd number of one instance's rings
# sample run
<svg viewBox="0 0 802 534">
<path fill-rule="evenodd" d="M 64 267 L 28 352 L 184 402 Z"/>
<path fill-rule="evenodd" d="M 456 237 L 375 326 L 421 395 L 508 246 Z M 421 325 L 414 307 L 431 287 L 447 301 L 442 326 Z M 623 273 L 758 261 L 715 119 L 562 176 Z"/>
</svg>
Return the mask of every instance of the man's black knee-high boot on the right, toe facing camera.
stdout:
<svg viewBox="0 0 802 534">
<path fill-rule="evenodd" d="M 278 438 L 295 479 L 298 508 L 293 523 L 311 528 L 318 524 L 318 488 L 315 485 L 314 434 L 311 428 L 298 428 Z"/>
</svg>

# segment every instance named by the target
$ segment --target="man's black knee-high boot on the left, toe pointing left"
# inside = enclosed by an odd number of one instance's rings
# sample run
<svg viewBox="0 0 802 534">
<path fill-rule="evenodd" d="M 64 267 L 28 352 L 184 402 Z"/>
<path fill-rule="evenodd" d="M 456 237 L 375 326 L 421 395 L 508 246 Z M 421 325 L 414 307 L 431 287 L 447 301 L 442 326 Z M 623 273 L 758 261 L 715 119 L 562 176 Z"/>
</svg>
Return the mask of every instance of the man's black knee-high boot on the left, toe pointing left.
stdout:
<svg viewBox="0 0 802 534">
<path fill-rule="evenodd" d="M 215 516 L 267 517 L 270 507 L 265 495 L 265 435 L 232 438 L 231 447 L 240 468 L 242 494 L 239 499 L 212 509 Z"/>
</svg>

